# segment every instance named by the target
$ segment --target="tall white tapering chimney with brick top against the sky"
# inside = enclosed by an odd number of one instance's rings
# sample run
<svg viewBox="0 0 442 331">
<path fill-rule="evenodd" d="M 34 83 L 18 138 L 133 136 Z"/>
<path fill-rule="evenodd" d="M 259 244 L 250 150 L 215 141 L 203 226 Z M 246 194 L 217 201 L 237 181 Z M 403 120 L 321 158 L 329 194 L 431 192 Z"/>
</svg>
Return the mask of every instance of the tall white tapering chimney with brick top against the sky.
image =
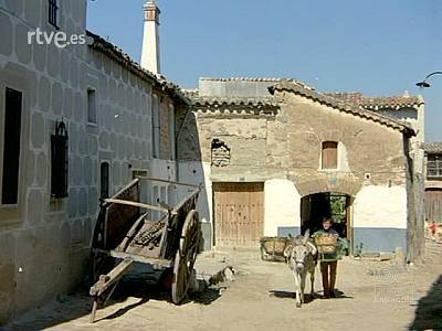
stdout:
<svg viewBox="0 0 442 331">
<path fill-rule="evenodd" d="M 159 14 L 155 0 L 146 1 L 144 6 L 145 30 L 143 35 L 141 67 L 160 74 L 159 67 Z"/>
</svg>

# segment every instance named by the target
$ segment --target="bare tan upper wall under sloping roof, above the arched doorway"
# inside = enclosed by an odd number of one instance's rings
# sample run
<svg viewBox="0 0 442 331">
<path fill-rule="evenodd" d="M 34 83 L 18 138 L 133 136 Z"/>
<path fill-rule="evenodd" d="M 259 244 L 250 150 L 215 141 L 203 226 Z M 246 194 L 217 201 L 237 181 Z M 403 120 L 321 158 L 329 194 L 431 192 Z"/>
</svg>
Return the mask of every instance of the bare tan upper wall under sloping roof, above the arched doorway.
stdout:
<svg viewBox="0 0 442 331">
<path fill-rule="evenodd" d="M 362 184 L 406 185 L 401 132 L 295 95 L 285 95 L 285 103 L 281 116 L 286 117 L 286 125 L 269 129 L 274 132 L 269 143 L 287 145 L 286 167 L 301 195 L 339 190 L 355 195 Z M 276 121 L 276 126 L 281 125 Z M 345 147 L 348 168 L 320 169 L 322 142 L 327 140 Z M 338 147 L 338 157 L 344 157 L 339 152 Z M 273 158 L 270 164 L 278 167 L 282 161 Z"/>
</svg>

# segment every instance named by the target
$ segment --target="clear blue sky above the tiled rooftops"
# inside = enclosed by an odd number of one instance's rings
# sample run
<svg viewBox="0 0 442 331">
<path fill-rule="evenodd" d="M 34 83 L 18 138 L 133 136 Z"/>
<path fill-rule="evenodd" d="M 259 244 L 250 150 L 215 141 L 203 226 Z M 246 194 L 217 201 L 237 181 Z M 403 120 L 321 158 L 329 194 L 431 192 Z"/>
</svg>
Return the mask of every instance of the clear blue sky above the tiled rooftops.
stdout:
<svg viewBox="0 0 442 331">
<path fill-rule="evenodd" d="M 88 1 L 87 28 L 139 62 L 143 0 Z M 427 140 L 442 140 L 441 0 L 158 0 L 161 72 L 198 77 L 293 77 L 322 92 L 425 98 Z"/>
</svg>

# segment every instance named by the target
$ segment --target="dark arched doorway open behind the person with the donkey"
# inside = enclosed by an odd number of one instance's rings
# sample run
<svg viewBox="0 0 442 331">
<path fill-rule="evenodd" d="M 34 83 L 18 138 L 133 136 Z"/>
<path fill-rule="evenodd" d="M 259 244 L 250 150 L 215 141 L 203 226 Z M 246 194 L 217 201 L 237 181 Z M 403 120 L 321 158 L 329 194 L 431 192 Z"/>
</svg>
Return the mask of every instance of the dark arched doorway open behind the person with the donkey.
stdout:
<svg viewBox="0 0 442 331">
<path fill-rule="evenodd" d="M 351 196 L 337 192 L 309 194 L 301 199 L 301 233 L 322 228 L 324 217 L 333 220 L 340 237 L 351 242 Z"/>
</svg>

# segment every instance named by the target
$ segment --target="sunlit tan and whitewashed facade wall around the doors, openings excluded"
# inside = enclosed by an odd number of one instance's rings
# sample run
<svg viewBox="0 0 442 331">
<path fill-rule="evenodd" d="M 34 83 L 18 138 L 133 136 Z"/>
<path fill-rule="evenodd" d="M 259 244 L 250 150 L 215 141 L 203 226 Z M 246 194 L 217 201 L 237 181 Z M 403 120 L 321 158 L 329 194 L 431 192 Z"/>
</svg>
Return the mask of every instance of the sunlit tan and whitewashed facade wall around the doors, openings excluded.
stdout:
<svg viewBox="0 0 442 331">
<path fill-rule="evenodd" d="M 264 182 L 264 235 L 274 236 L 299 232 L 302 196 L 345 193 L 354 201 L 355 239 L 366 242 L 368 249 L 407 246 L 402 134 L 294 94 L 276 98 L 276 115 L 265 108 L 252 115 L 235 105 L 192 109 L 179 140 L 180 169 L 204 164 L 204 178 L 199 180 L 207 200 L 212 200 L 212 182 Z M 214 140 L 229 148 L 229 166 L 213 164 Z M 336 170 L 322 169 L 323 141 L 338 142 Z M 211 215 L 210 210 L 210 222 Z"/>
</svg>

